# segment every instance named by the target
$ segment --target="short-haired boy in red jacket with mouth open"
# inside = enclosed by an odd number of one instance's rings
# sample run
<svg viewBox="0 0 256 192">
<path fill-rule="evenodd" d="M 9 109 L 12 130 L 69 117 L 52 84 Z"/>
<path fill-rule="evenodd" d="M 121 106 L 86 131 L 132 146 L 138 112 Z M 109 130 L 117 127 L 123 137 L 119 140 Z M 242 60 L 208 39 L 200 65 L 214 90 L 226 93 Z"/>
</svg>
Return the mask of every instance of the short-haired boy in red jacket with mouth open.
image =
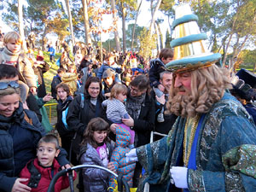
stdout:
<svg viewBox="0 0 256 192">
<path fill-rule="evenodd" d="M 59 153 L 59 142 L 54 135 L 49 134 L 39 140 L 38 158 L 29 161 L 20 172 L 20 178 L 29 178 L 24 184 L 32 188 L 32 192 L 47 191 L 51 179 L 61 170 L 60 164 L 55 160 Z M 60 192 L 68 186 L 67 175 L 62 176 L 55 183 L 55 192 Z"/>
</svg>

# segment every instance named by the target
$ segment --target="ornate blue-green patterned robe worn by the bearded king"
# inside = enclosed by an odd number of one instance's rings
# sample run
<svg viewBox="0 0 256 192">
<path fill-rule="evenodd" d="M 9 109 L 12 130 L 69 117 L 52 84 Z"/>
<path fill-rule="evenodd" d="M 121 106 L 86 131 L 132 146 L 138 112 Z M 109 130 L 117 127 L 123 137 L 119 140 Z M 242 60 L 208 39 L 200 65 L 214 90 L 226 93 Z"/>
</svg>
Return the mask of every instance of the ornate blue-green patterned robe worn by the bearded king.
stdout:
<svg viewBox="0 0 256 192">
<path fill-rule="evenodd" d="M 170 167 L 183 166 L 185 123 L 178 117 L 168 137 L 137 148 L 146 170 L 143 184 L 148 182 L 150 191 L 166 191 Z M 235 97 L 225 93 L 202 122 L 195 152 L 197 169 L 188 170 L 189 191 L 256 191 L 255 144 L 253 119 Z M 143 185 L 138 191 L 142 189 Z"/>
</svg>

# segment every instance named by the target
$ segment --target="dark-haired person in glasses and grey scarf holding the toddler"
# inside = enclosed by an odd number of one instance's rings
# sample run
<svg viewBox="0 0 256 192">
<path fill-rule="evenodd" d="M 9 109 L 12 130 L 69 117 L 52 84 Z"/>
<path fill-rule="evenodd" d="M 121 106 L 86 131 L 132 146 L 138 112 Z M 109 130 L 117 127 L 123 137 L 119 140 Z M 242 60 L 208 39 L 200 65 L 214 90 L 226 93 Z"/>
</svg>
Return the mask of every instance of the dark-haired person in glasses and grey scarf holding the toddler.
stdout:
<svg viewBox="0 0 256 192">
<path fill-rule="evenodd" d="M 146 75 L 139 75 L 131 81 L 126 101 L 126 110 L 130 119 L 123 123 L 135 131 L 134 146 L 140 147 L 150 142 L 150 132 L 154 129 L 154 100 L 148 94 L 149 80 Z M 115 133 L 116 124 L 110 126 Z M 137 163 L 133 177 L 133 186 L 137 187 L 142 166 Z"/>
</svg>

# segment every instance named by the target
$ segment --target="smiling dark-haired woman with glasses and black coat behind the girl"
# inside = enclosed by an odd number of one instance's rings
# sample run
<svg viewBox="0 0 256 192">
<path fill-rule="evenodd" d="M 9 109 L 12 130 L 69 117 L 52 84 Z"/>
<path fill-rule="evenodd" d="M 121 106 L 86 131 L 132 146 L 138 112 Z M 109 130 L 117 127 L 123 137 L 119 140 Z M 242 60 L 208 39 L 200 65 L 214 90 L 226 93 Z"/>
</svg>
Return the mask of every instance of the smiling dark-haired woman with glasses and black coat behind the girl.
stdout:
<svg viewBox="0 0 256 192">
<path fill-rule="evenodd" d="M 90 119 L 96 117 L 107 119 L 106 112 L 102 108 L 104 99 L 100 79 L 90 77 L 84 85 L 84 94 L 79 94 L 70 103 L 67 112 L 67 125 L 76 132 L 76 137 L 72 145 L 75 154 L 79 154 L 80 152 L 80 143 L 82 142 L 84 130 Z M 78 164 L 79 162 L 73 162 L 73 165 Z"/>
</svg>

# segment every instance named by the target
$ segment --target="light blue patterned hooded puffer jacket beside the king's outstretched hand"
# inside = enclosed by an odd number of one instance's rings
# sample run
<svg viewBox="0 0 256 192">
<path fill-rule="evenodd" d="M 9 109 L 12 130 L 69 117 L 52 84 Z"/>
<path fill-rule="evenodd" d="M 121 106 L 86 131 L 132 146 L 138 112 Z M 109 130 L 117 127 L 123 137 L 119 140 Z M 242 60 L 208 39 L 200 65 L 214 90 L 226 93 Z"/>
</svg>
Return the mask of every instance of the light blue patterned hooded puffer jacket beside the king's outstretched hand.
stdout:
<svg viewBox="0 0 256 192">
<path fill-rule="evenodd" d="M 130 161 L 126 162 L 126 156 L 130 151 L 129 143 L 130 143 L 131 135 L 129 131 L 125 130 L 121 126 L 116 128 L 116 143 L 115 148 L 113 149 L 113 154 L 111 156 L 110 162 L 113 162 L 113 166 L 115 170 L 117 170 L 118 175 L 122 174 L 125 181 L 132 187 L 132 177 L 135 170 L 136 162 Z M 115 188 L 115 184 L 113 181 L 114 177 L 110 177 L 110 187 Z"/>
</svg>

